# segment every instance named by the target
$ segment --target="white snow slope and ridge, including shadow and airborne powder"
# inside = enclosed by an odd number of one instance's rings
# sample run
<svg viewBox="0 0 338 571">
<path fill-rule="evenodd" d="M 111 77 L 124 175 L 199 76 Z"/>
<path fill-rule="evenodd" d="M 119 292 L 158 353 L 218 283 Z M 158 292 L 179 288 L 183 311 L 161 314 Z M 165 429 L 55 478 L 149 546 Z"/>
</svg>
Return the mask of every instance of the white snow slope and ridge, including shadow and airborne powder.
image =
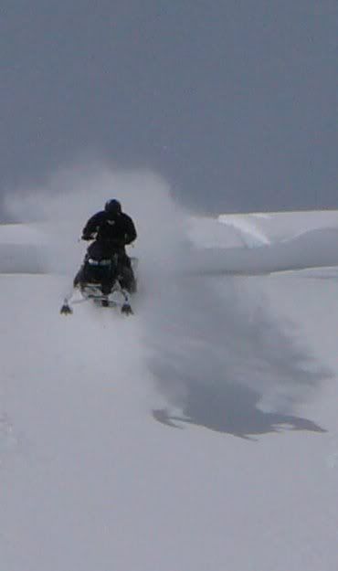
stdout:
<svg viewBox="0 0 338 571">
<path fill-rule="evenodd" d="M 338 212 L 227 225 L 150 173 L 48 185 L 8 203 L 40 212 L 42 273 L 0 264 L 0 570 L 335 571 Z M 107 195 L 139 229 L 135 315 L 61 316 Z"/>
</svg>

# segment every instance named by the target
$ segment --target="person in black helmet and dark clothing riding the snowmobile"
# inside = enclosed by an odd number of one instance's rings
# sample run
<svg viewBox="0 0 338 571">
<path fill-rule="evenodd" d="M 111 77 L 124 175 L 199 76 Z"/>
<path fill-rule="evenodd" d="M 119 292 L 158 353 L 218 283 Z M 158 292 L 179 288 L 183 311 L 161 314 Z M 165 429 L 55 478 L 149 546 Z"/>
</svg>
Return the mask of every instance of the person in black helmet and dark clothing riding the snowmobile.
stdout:
<svg viewBox="0 0 338 571">
<path fill-rule="evenodd" d="M 90 217 L 82 230 L 82 240 L 95 239 L 103 242 L 111 251 L 111 256 L 118 254 L 121 270 L 121 287 L 130 291 L 136 290 L 136 280 L 132 271 L 131 259 L 127 256 L 125 246 L 132 244 L 137 238 L 132 218 L 122 212 L 121 203 L 115 198 L 108 200 L 104 210 Z M 79 284 L 79 273 L 74 279 L 74 287 Z"/>
</svg>

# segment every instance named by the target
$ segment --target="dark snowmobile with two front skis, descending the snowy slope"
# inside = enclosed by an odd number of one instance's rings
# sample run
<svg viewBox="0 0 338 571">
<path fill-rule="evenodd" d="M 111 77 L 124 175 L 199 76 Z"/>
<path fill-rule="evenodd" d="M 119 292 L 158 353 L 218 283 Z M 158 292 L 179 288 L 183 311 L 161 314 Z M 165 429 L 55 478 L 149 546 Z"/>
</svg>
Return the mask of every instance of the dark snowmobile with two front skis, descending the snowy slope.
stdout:
<svg viewBox="0 0 338 571">
<path fill-rule="evenodd" d="M 138 259 L 130 260 L 132 270 L 136 270 Z M 128 271 L 121 268 L 119 251 L 111 255 L 110 243 L 99 240 L 92 242 L 74 279 L 73 291 L 64 299 L 60 313 L 72 313 L 71 303 L 92 300 L 100 307 L 120 308 L 121 313 L 131 315 L 130 293 L 136 291 L 136 280 L 132 271 L 132 284 L 129 284 L 132 287 L 128 291 L 125 270 Z"/>
</svg>

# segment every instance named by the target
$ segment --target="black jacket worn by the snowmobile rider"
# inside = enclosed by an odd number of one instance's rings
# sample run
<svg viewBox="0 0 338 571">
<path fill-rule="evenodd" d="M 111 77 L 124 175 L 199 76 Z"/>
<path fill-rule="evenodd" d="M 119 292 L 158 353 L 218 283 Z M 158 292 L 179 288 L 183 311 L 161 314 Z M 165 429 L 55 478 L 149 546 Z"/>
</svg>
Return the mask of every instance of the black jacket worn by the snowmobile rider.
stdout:
<svg viewBox="0 0 338 571">
<path fill-rule="evenodd" d="M 137 238 L 131 217 L 121 212 L 114 220 L 110 220 L 104 210 L 89 219 L 83 228 L 82 238 L 92 238 L 92 234 L 96 234 L 97 240 L 112 240 L 119 242 L 121 246 L 131 244 Z"/>
</svg>

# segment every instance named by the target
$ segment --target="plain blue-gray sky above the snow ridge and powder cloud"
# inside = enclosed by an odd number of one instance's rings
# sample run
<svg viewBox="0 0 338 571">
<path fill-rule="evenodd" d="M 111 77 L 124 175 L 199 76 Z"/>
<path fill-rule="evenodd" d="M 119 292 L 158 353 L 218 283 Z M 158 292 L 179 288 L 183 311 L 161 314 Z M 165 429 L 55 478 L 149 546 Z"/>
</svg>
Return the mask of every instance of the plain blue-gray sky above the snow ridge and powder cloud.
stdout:
<svg viewBox="0 0 338 571">
<path fill-rule="evenodd" d="M 0 193 L 82 155 L 206 212 L 338 207 L 336 0 L 3 0 Z"/>
</svg>

